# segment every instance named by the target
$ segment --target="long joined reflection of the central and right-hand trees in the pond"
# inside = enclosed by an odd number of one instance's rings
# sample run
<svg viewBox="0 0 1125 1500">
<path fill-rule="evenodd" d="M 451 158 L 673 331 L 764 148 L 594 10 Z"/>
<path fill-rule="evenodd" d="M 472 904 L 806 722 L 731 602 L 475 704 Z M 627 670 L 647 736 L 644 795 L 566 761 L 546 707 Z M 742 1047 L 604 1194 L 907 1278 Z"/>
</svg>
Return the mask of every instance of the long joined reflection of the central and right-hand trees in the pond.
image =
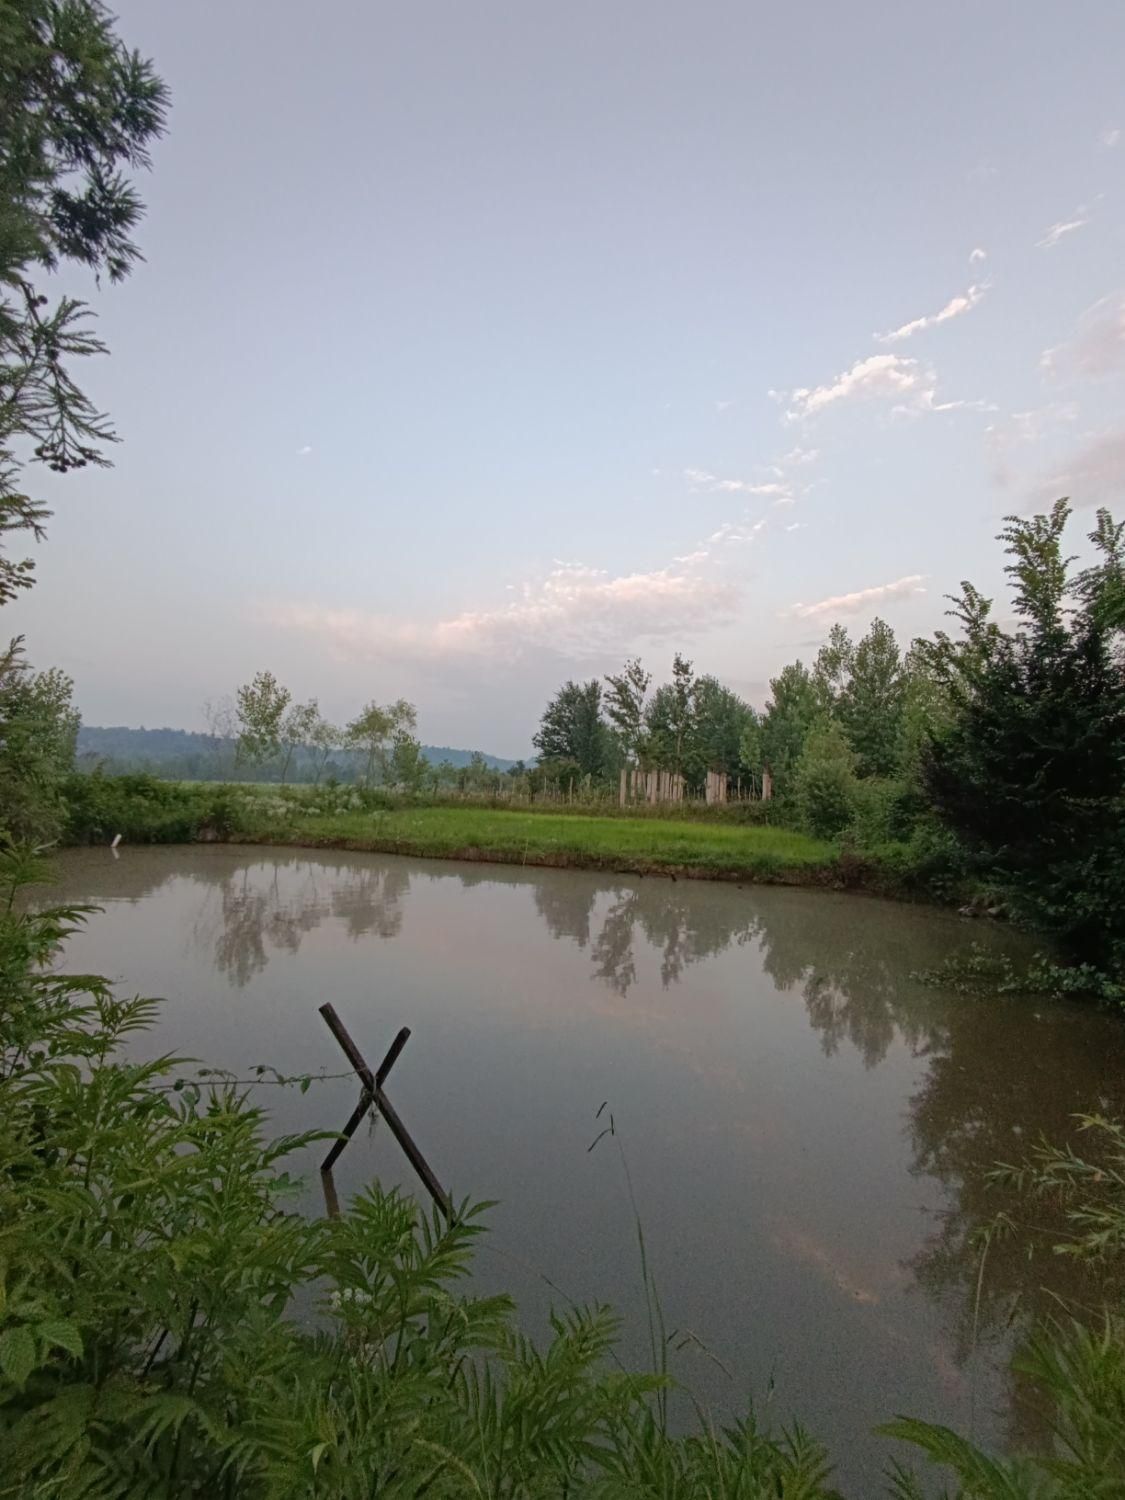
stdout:
<svg viewBox="0 0 1125 1500">
<path fill-rule="evenodd" d="M 912 974 L 946 960 L 969 938 L 954 918 L 926 909 L 813 892 L 735 897 L 656 880 L 612 890 L 608 908 L 598 894 L 606 892 L 592 882 L 549 880 L 536 886 L 536 904 L 555 938 L 590 946 L 596 975 L 616 993 L 638 980 L 639 934 L 658 951 L 666 987 L 693 963 L 758 939 L 764 970 L 780 990 L 800 992 L 828 1056 L 850 1044 L 867 1068 L 892 1047 L 920 1059 L 926 1072 L 906 1131 L 914 1172 L 942 1185 L 945 1204 L 906 1269 L 942 1308 L 958 1366 L 980 1350 L 1005 1370 L 1011 1347 L 1035 1320 L 1058 1314 L 1059 1299 L 1074 1311 L 1104 1302 L 1104 1274 L 1052 1254 L 1065 1226 L 1050 1206 L 1022 1202 L 992 1173 L 1000 1161 L 1023 1160 L 1044 1136 L 1072 1140 L 1080 1112 L 1125 1118 L 1120 1023 L 920 984 Z M 986 946 L 1018 944 L 996 928 L 972 936 Z M 999 1214 L 1017 1228 L 992 1238 L 981 1274 L 981 1236 Z M 1029 1256 L 1034 1244 L 1040 1248 Z M 1002 1378 L 1010 1438 L 1041 1443 L 1048 1413 L 1028 1400 L 1018 1376 Z"/>
</svg>

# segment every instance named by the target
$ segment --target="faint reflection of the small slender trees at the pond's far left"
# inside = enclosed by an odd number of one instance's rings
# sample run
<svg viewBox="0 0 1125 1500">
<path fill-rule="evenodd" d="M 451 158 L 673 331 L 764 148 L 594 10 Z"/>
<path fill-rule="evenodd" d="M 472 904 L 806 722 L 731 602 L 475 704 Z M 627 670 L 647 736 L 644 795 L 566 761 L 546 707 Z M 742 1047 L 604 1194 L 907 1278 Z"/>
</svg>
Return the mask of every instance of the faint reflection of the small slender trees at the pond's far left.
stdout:
<svg viewBox="0 0 1125 1500">
<path fill-rule="evenodd" d="M 288 879 L 279 879 L 285 872 Z M 292 876 L 298 880 L 294 886 Z M 400 866 L 327 866 L 278 861 L 226 872 L 219 885 L 218 934 L 213 921 L 196 922 L 196 940 L 210 944 L 216 968 L 238 988 L 268 963 L 270 950 L 296 954 L 326 916 L 344 922 L 350 938 L 394 938 L 410 872 Z"/>
</svg>

